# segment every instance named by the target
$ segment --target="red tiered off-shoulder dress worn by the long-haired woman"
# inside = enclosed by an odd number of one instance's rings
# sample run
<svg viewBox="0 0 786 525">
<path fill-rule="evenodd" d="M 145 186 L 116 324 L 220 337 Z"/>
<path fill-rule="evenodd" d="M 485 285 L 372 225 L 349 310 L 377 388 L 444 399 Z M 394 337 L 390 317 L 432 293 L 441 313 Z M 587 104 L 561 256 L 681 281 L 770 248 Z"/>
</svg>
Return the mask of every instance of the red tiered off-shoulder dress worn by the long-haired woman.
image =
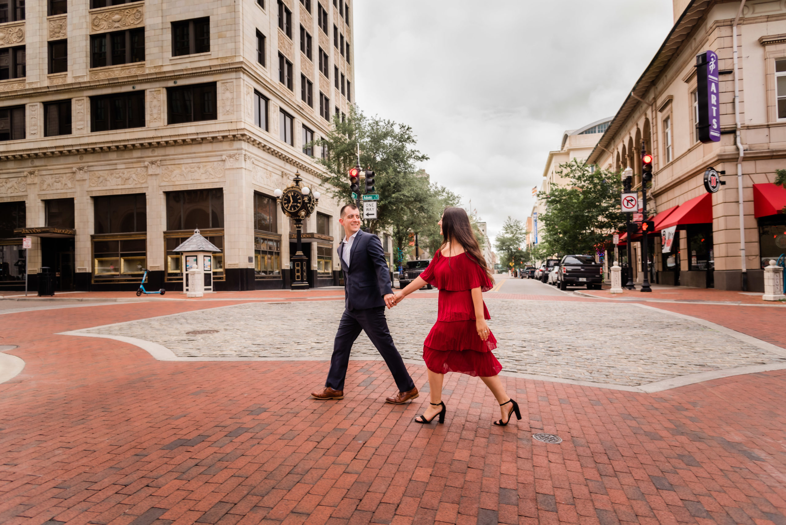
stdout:
<svg viewBox="0 0 786 525">
<path fill-rule="evenodd" d="M 490 377 L 500 373 L 502 365 L 494 354 L 494 334 L 483 341 L 475 325 L 472 288 L 487 292 L 494 287 L 483 268 L 469 255 L 446 257 L 439 251 L 421 278 L 439 288 L 437 322 L 423 343 L 423 360 L 435 373 L 459 372 L 470 376 Z M 490 319 L 486 303 L 483 318 Z"/>
</svg>

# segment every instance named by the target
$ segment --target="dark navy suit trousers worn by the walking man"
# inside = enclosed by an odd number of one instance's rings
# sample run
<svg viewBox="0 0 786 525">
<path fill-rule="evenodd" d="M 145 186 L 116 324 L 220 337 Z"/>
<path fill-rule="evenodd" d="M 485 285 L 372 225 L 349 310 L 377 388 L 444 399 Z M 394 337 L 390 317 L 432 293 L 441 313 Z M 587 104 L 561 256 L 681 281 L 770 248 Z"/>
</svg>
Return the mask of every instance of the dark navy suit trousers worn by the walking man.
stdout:
<svg viewBox="0 0 786 525">
<path fill-rule="evenodd" d="M 406 371 L 401 354 L 393 344 L 390 330 L 387 329 L 385 307 L 344 310 L 338 332 L 336 332 L 336 341 L 333 343 L 330 371 L 328 380 L 325 381 L 325 387 L 343 391 L 352 344 L 354 340 L 358 339 L 362 330 L 369 336 L 376 350 L 384 358 L 387 368 L 393 374 L 396 386 L 399 387 L 399 392 L 412 390 L 415 384 L 410 373 Z"/>
</svg>

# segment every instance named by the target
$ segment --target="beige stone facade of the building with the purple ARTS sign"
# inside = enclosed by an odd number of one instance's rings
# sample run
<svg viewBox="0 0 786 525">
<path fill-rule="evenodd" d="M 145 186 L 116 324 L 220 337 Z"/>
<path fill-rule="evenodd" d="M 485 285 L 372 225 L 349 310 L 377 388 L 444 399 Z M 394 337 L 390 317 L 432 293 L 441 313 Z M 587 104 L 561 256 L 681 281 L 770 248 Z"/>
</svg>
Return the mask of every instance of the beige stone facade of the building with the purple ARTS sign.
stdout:
<svg viewBox="0 0 786 525">
<path fill-rule="evenodd" d="M 733 20 L 740 2 L 687 2 L 674 0 L 675 24 L 663 46 L 632 86 L 611 126 L 589 156 L 590 163 L 614 171 L 630 166 L 634 186 L 641 189 L 641 143 L 654 154 L 654 178 L 648 192 L 648 208 L 656 212 L 684 205 L 705 195 L 704 173 L 709 167 L 725 171 L 718 193 L 711 194 L 708 222 L 678 226 L 678 248 L 663 254 L 660 239 L 654 244 L 653 276 L 661 284 L 713 286 L 740 290 L 743 282 L 751 292 L 763 291 L 762 260 L 786 252 L 786 236 L 769 228 L 783 224 L 784 215 L 755 215 L 754 185 L 774 191 L 775 170 L 786 167 L 786 6 L 783 2 L 744 2 L 737 25 L 738 83 L 744 200 L 744 247 L 747 276 L 743 279 L 740 256 L 735 145 L 733 71 Z M 696 134 L 696 55 L 712 50 L 718 54 L 721 141 L 703 144 Z M 780 91 L 778 90 L 780 86 Z M 780 103 L 783 106 L 783 103 Z M 757 208 L 758 209 L 758 208 Z M 758 212 L 760 215 L 760 212 Z M 780 240 L 782 250 L 775 245 Z M 703 244 L 708 244 L 703 246 Z M 641 282 L 641 246 L 634 242 L 637 281 Z M 773 251 L 774 250 L 774 251 Z M 697 253 L 698 252 L 698 253 Z M 704 255 L 702 255 L 702 253 Z M 777 257 L 776 257 L 777 258 Z M 703 260 L 703 262 L 702 262 Z"/>
</svg>

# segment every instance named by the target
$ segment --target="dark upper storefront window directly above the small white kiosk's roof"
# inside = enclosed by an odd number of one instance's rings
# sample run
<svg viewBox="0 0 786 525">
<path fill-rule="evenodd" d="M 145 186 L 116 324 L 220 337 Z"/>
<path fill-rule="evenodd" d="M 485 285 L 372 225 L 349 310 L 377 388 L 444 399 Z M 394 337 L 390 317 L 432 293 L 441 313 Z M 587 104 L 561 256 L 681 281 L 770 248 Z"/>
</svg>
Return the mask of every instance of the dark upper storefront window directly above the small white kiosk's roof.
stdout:
<svg viewBox="0 0 786 525">
<path fill-rule="evenodd" d="M 168 230 L 223 227 L 223 189 L 195 189 L 167 193 Z"/>
</svg>

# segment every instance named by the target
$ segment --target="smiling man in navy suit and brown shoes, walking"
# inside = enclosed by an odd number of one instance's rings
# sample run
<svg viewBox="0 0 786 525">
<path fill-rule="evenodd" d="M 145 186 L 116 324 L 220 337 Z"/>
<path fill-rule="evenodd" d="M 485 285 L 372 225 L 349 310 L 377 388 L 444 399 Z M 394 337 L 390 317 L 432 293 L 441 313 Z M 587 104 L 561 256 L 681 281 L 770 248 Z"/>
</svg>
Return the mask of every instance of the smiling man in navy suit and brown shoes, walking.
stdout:
<svg viewBox="0 0 786 525">
<path fill-rule="evenodd" d="M 311 392 L 311 395 L 317 399 L 343 399 L 343 384 L 352 343 L 364 330 L 384 358 L 399 387 L 399 392 L 385 401 L 400 405 L 417 398 L 417 388 L 387 329 L 385 305 L 392 308 L 395 296 L 382 243 L 373 233 L 365 233 L 360 229 L 361 215 L 354 204 L 341 208 L 339 222 L 345 233 L 338 249 L 345 275 L 344 313 L 333 343 L 325 388 Z"/>
</svg>

